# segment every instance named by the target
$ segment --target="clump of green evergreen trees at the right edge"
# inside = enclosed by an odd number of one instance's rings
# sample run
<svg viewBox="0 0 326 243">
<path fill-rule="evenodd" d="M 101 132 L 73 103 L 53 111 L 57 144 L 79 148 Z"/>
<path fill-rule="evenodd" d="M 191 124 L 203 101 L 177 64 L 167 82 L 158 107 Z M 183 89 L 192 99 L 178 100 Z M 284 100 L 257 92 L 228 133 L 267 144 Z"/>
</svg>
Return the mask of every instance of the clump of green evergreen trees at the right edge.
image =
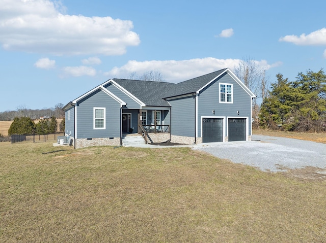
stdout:
<svg viewBox="0 0 326 243">
<path fill-rule="evenodd" d="M 294 82 L 277 75 L 259 114 L 264 127 L 285 130 L 320 130 L 326 121 L 326 75 L 321 69 L 299 73 Z"/>
</svg>

